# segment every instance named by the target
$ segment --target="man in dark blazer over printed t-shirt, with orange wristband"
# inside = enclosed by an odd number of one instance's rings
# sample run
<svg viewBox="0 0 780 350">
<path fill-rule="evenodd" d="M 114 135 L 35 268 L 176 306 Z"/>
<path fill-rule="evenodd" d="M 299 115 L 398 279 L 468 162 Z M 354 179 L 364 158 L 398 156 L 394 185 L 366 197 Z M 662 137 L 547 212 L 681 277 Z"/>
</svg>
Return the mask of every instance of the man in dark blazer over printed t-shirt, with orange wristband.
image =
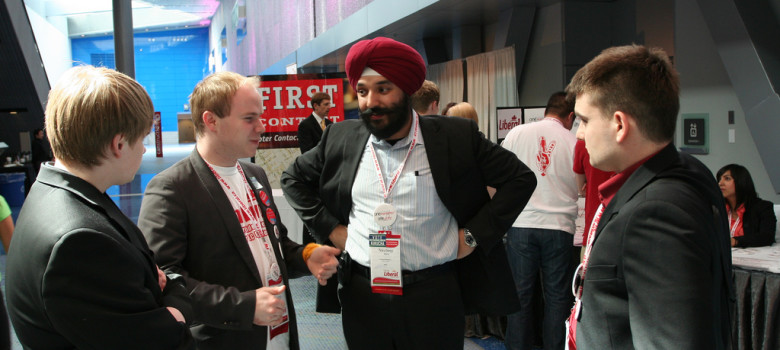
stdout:
<svg viewBox="0 0 780 350">
<path fill-rule="evenodd" d="M 157 262 L 185 276 L 199 349 L 298 349 L 289 278 L 336 271 L 338 249 L 287 237 L 255 155 L 265 131 L 258 81 L 212 74 L 190 96 L 189 157 L 146 187 L 138 226 Z"/>
</svg>

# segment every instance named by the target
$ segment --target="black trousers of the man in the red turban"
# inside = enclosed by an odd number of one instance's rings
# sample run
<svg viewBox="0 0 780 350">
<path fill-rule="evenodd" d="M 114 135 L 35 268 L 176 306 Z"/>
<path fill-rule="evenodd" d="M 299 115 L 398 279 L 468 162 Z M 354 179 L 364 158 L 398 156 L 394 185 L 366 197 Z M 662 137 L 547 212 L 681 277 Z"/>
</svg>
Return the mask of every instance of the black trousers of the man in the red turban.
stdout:
<svg viewBox="0 0 780 350">
<path fill-rule="evenodd" d="M 463 301 L 454 269 L 404 286 L 403 295 L 372 293 L 368 278 L 353 273 L 339 299 L 352 350 L 463 349 Z"/>
</svg>

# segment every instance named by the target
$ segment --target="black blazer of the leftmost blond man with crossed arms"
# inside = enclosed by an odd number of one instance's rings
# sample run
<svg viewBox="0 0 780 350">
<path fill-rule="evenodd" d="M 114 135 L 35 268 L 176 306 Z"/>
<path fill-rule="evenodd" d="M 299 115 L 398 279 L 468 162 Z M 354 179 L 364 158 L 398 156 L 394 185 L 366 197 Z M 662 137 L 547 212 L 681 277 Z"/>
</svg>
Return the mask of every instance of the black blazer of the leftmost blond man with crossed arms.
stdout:
<svg viewBox="0 0 780 350">
<path fill-rule="evenodd" d="M 8 253 L 8 311 L 26 349 L 194 348 L 181 281 L 161 291 L 138 228 L 105 193 L 50 165 L 30 189 Z"/>
</svg>

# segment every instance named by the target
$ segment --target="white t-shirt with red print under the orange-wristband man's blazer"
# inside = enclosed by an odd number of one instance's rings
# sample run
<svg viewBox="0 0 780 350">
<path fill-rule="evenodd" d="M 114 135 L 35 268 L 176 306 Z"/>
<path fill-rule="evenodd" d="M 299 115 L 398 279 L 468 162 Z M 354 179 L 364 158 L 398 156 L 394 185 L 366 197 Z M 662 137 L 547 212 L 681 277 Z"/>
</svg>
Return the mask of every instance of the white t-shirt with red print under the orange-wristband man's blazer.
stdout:
<svg viewBox="0 0 780 350">
<path fill-rule="evenodd" d="M 217 180 L 233 206 L 233 211 L 244 231 L 244 237 L 249 244 L 249 250 L 252 252 L 257 269 L 260 271 L 260 276 L 263 277 L 263 286 L 283 285 L 282 272 L 276 261 L 273 247 L 271 247 L 271 240 L 268 238 L 269 230 L 266 229 L 257 198 L 242 174 L 243 171 L 239 171 L 240 166 L 238 164 L 232 167 L 220 167 L 212 164 L 209 166 L 216 172 Z M 280 294 L 280 297 L 284 298 L 285 304 L 289 305 L 286 293 Z M 285 314 L 282 324 L 268 327 L 266 349 L 289 348 L 289 315 Z"/>
</svg>

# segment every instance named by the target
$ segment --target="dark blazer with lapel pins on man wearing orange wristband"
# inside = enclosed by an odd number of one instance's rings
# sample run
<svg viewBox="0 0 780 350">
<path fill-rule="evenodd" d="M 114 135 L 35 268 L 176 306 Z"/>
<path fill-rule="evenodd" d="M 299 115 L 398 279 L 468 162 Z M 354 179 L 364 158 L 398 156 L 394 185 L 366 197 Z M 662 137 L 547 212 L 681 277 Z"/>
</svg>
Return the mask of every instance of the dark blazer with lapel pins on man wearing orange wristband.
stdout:
<svg viewBox="0 0 780 350">
<path fill-rule="evenodd" d="M 309 273 L 303 262 L 303 246 L 287 237 L 263 168 L 245 162 L 241 167 L 247 182 L 252 185 L 254 177 L 271 199 L 270 209 L 276 216 L 273 222 L 266 215 L 269 207 L 262 203 L 259 188 L 254 188 L 268 232 L 273 233 L 274 226 L 279 230 L 278 238 L 274 234 L 268 237 L 287 286 L 290 349 L 297 349 L 288 279 Z M 195 308 L 192 333 L 198 349 L 265 348 L 267 328 L 252 323 L 255 289 L 263 286 L 260 272 L 230 200 L 197 146 L 189 157 L 149 181 L 138 227 L 163 270 L 181 274 L 187 281 Z"/>
</svg>

